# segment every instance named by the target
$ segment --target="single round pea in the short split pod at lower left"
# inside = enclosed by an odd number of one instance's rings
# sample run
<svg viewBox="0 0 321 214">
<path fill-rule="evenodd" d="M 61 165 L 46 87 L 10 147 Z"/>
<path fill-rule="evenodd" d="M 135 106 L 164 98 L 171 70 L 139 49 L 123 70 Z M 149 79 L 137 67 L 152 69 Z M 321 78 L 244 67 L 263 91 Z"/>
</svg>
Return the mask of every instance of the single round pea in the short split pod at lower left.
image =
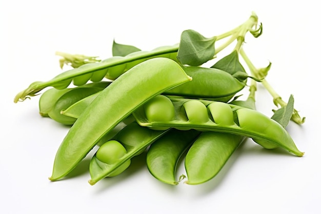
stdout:
<svg viewBox="0 0 321 214">
<path fill-rule="evenodd" d="M 127 151 L 121 143 L 115 140 L 111 140 L 107 141 L 101 147 L 98 148 L 96 152 L 96 158 L 99 161 L 102 161 L 106 164 L 114 164 L 117 161 L 119 161 L 119 159 L 124 157 L 126 153 Z M 119 166 L 117 170 L 108 174 L 108 177 L 117 176 L 118 174 L 122 173 L 125 169 L 127 169 L 129 165 L 130 160 L 126 161 L 124 164 Z"/>
</svg>

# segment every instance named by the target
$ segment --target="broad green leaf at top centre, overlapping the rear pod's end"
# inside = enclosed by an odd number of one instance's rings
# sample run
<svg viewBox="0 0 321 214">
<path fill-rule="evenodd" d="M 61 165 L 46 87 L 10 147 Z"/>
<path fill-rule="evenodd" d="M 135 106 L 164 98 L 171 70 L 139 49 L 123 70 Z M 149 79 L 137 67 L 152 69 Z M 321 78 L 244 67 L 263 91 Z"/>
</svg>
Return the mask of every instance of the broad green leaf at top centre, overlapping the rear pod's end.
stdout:
<svg viewBox="0 0 321 214">
<path fill-rule="evenodd" d="M 177 59 L 183 65 L 202 65 L 213 59 L 215 41 L 216 37 L 206 38 L 194 30 L 185 30 L 180 35 Z"/>
</svg>

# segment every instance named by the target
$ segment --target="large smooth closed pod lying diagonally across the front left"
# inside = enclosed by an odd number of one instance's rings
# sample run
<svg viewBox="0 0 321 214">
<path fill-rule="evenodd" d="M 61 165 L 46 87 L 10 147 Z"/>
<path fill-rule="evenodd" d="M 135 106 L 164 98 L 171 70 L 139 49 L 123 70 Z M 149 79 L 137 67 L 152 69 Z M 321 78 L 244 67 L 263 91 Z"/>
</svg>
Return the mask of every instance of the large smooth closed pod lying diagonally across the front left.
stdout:
<svg viewBox="0 0 321 214">
<path fill-rule="evenodd" d="M 103 135 L 157 94 L 191 81 L 173 60 L 140 63 L 104 89 L 70 128 L 56 153 L 52 181 L 66 176 Z"/>
</svg>

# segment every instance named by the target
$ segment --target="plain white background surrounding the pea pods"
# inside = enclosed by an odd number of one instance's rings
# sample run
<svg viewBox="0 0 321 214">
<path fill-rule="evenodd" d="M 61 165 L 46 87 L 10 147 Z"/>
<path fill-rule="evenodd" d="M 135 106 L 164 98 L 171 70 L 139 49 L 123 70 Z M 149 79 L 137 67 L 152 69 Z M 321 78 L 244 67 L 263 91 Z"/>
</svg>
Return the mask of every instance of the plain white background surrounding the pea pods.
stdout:
<svg viewBox="0 0 321 214">
<path fill-rule="evenodd" d="M 283 3 L 284 2 L 284 3 Z M 320 213 L 320 56 L 317 1 L 2 1 L 0 6 L 0 213 Z M 143 50 L 179 42 L 194 29 L 210 37 L 255 11 L 264 32 L 244 49 L 257 67 L 269 61 L 269 83 L 306 123 L 287 127 L 303 158 L 247 140 L 205 184 L 168 186 L 150 176 L 144 155 L 121 176 L 87 183 L 77 172 L 50 182 L 55 152 L 68 127 L 38 114 L 39 96 L 15 94 L 61 70 L 55 51 L 111 56 L 113 39 Z M 258 87 L 257 109 L 271 116 L 271 96 Z M 180 171 L 184 170 L 182 167 Z"/>
</svg>

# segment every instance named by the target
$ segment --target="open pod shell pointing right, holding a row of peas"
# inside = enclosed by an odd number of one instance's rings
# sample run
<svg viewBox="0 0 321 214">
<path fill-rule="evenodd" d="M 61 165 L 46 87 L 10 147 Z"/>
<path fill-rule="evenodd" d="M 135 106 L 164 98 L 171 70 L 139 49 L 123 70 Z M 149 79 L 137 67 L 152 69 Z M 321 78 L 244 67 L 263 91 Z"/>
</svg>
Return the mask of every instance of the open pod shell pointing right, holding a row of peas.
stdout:
<svg viewBox="0 0 321 214">
<path fill-rule="evenodd" d="M 256 110 L 230 105 L 234 114 L 233 125 L 227 124 L 217 124 L 215 121 L 208 120 L 208 122 L 199 123 L 186 121 L 182 119 L 182 106 L 184 103 L 190 101 L 190 99 L 171 99 L 174 109 L 175 118 L 169 122 L 159 122 L 159 121 L 148 121 L 146 119 L 144 109 L 137 109 L 133 115 L 137 123 L 141 126 L 147 126 L 152 128 L 177 128 L 177 129 L 196 129 L 200 131 L 217 131 L 226 132 L 232 134 L 243 135 L 244 137 L 249 137 L 255 140 L 260 140 L 264 142 L 269 142 L 281 148 L 292 152 L 298 157 L 302 157 L 304 152 L 297 149 L 294 141 L 292 140 L 290 134 L 287 130 L 281 126 L 276 121 L 272 120 L 263 113 Z M 196 100 L 195 100 L 196 101 Z M 198 102 L 203 103 L 208 106 L 215 101 L 198 100 Z M 185 107 L 186 109 L 186 107 Z M 220 109 L 217 109 L 219 114 Z M 210 111 L 209 111 L 210 112 Z M 224 111 L 222 112 L 224 113 Z M 209 119 L 213 118 L 212 115 L 208 115 Z"/>
</svg>

